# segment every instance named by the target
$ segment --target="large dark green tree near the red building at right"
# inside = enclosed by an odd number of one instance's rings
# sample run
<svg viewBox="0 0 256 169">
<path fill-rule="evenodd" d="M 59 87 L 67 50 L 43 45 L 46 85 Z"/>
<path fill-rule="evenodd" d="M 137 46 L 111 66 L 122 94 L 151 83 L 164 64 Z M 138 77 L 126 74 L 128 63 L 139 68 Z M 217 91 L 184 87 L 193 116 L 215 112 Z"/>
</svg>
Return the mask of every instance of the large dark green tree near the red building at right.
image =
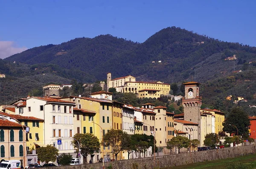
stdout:
<svg viewBox="0 0 256 169">
<path fill-rule="evenodd" d="M 248 138 L 249 136 L 249 131 L 247 127 L 250 126 L 250 120 L 248 114 L 244 112 L 241 107 L 233 107 L 231 109 L 231 112 L 227 114 L 227 118 L 223 122 L 223 126 L 224 132 L 228 132 L 230 134 L 236 133 L 237 135 L 238 129 L 239 135 L 243 135 L 245 138 Z M 237 129 L 234 126 L 236 126 Z"/>
</svg>

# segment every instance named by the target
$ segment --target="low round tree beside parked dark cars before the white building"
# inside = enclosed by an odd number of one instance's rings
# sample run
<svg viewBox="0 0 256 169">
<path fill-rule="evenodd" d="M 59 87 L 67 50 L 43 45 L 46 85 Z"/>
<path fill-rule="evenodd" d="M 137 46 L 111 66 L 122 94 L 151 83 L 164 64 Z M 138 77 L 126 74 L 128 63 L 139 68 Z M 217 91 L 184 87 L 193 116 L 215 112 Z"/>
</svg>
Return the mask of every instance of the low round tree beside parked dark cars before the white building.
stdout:
<svg viewBox="0 0 256 169">
<path fill-rule="evenodd" d="M 56 161 L 58 156 L 58 149 L 52 145 L 47 144 L 47 146 L 42 146 L 37 149 L 38 152 L 38 159 L 41 162 L 49 163 L 49 161 Z"/>
</svg>

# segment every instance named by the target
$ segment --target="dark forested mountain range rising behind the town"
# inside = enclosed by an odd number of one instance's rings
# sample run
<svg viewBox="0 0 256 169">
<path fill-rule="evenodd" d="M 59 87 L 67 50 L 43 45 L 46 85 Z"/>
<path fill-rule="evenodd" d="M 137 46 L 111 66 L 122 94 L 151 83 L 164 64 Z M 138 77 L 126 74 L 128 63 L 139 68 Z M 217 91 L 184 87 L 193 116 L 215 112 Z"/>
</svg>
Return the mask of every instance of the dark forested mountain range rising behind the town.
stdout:
<svg viewBox="0 0 256 169">
<path fill-rule="evenodd" d="M 224 60 L 234 54 L 237 60 Z M 212 102 L 215 98 L 234 92 L 244 96 L 241 86 L 256 85 L 255 80 L 250 79 L 253 77 L 247 76 L 256 71 L 255 54 L 256 48 L 249 45 L 168 27 L 143 43 L 107 34 L 35 47 L 0 60 L 0 73 L 26 79 L 46 73 L 51 77 L 60 76 L 62 82 L 76 79 L 84 83 L 102 81 L 108 72 L 113 78 L 132 75 L 142 81 L 180 84 L 193 80 L 202 83 L 205 102 L 215 104 Z M 243 71 L 235 74 L 235 70 Z M 253 99 L 253 91 L 249 95 Z"/>
</svg>

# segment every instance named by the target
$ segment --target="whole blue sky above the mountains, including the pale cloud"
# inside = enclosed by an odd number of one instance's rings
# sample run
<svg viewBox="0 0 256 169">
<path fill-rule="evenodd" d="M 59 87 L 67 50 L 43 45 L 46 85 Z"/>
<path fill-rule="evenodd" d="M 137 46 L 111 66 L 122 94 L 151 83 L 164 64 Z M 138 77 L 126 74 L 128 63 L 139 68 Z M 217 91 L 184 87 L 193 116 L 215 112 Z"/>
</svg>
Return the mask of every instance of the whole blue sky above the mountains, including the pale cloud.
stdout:
<svg viewBox="0 0 256 169">
<path fill-rule="evenodd" d="M 144 42 L 168 26 L 256 46 L 253 0 L 0 0 L 0 58 L 100 34 Z"/>
</svg>

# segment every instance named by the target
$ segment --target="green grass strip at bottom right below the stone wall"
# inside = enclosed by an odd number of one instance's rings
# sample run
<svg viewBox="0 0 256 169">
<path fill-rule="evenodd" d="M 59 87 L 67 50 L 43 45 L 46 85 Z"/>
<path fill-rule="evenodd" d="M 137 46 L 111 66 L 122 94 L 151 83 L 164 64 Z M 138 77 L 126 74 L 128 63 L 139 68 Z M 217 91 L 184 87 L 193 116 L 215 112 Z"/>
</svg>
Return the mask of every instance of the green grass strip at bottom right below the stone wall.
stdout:
<svg viewBox="0 0 256 169">
<path fill-rule="evenodd" d="M 205 161 L 202 163 L 192 163 L 188 165 L 167 167 L 164 169 L 226 169 L 234 163 L 241 163 L 248 168 L 256 168 L 256 154 L 244 155 L 237 158 L 227 158 L 216 161 Z"/>
</svg>

